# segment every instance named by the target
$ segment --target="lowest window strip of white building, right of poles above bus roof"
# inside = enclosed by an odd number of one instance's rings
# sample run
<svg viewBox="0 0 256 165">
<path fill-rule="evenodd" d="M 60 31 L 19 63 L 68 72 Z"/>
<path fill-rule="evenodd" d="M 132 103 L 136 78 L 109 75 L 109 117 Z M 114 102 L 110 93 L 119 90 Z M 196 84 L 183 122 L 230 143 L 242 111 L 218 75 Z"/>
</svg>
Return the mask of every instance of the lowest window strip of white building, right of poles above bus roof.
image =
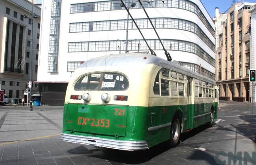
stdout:
<svg viewBox="0 0 256 165">
<path fill-rule="evenodd" d="M 191 70 L 193 72 L 196 72 L 198 74 L 202 74 L 208 78 L 211 78 L 213 80 L 215 80 L 215 74 L 213 74 L 212 72 L 204 69 L 203 67 L 200 67 L 197 64 L 194 63 L 186 63 L 186 62 L 179 62 L 180 65 L 188 70 Z"/>
</svg>

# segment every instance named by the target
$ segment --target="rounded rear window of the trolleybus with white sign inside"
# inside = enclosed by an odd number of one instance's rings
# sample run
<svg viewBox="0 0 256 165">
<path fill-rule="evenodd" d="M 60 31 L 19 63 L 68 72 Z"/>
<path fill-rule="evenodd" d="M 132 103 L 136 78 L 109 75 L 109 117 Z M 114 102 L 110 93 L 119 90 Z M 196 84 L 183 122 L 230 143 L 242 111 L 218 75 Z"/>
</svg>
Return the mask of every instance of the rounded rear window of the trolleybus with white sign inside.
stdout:
<svg viewBox="0 0 256 165">
<path fill-rule="evenodd" d="M 126 76 L 117 73 L 104 72 L 82 76 L 74 85 L 74 89 L 80 90 L 108 90 L 121 91 L 129 86 Z"/>
</svg>

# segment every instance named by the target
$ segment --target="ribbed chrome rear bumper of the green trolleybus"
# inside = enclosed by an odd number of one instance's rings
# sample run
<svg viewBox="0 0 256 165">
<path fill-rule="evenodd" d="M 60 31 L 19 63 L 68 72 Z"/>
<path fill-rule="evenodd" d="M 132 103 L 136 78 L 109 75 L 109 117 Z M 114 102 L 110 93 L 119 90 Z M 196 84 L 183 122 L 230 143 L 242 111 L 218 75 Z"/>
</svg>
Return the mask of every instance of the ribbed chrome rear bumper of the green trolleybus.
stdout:
<svg viewBox="0 0 256 165">
<path fill-rule="evenodd" d="M 61 133 L 61 140 L 72 143 L 113 148 L 118 150 L 132 151 L 148 149 L 148 144 L 146 141 L 122 141 L 92 136 L 72 135 L 67 133 Z"/>
</svg>

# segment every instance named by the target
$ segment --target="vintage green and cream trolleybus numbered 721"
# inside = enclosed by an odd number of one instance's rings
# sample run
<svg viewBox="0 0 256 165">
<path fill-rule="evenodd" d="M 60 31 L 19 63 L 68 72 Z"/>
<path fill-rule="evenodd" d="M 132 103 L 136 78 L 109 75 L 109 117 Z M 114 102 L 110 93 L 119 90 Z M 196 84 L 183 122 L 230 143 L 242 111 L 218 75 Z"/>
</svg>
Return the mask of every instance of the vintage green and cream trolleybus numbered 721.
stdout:
<svg viewBox="0 0 256 165">
<path fill-rule="evenodd" d="M 120 150 L 174 147 L 217 118 L 214 80 L 147 53 L 85 61 L 72 74 L 61 139 Z"/>
</svg>

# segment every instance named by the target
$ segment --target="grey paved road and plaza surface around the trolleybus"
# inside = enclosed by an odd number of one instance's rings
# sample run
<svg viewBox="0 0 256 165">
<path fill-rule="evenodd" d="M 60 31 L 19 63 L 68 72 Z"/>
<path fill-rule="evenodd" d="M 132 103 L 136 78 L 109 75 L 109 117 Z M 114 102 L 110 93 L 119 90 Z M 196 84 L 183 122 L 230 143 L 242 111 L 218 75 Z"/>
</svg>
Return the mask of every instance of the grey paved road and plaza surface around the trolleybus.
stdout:
<svg viewBox="0 0 256 165">
<path fill-rule="evenodd" d="M 237 158 L 243 164 L 248 154 L 252 157 L 256 151 L 252 106 L 241 102 L 220 103 L 219 118 L 213 127 L 201 126 L 182 135 L 176 148 L 160 144 L 135 152 L 61 141 L 63 107 L 34 107 L 30 112 L 26 107 L 0 106 L 0 165 L 213 165 L 221 161 L 228 164 L 228 152 L 238 156 L 241 153 Z M 256 164 L 256 158 L 250 161 Z"/>
</svg>

